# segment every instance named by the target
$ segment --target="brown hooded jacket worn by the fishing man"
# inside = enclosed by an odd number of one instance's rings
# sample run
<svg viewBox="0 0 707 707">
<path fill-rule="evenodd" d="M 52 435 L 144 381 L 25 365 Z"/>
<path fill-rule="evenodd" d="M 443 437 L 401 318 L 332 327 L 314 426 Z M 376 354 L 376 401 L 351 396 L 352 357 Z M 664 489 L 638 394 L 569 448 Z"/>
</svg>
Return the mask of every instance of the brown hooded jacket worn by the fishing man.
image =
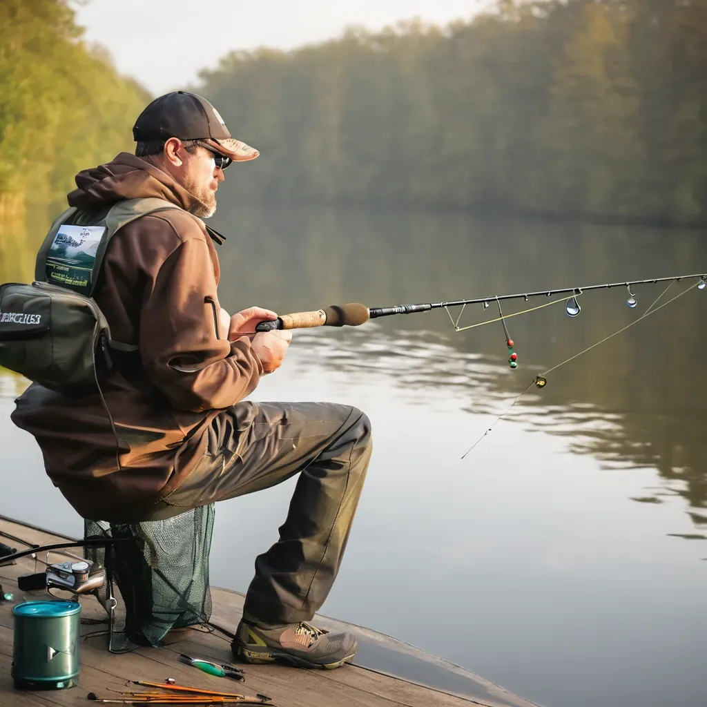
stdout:
<svg viewBox="0 0 707 707">
<path fill-rule="evenodd" d="M 197 203 L 191 194 L 129 153 L 79 173 L 76 185 L 69 205 L 79 209 L 138 197 L 185 209 L 124 226 L 103 261 L 95 300 L 112 338 L 139 346 L 139 356 L 101 384 L 119 450 L 98 395 L 71 398 L 31 385 L 12 415 L 35 436 L 47 474 L 78 513 L 133 520 L 189 475 L 219 409 L 249 395 L 262 366 L 249 339 L 229 342 L 217 332 L 209 300 L 219 308 L 218 257 L 204 223 L 187 213 Z M 242 429 L 252 407 L 240 408 Z"/>
</svg>

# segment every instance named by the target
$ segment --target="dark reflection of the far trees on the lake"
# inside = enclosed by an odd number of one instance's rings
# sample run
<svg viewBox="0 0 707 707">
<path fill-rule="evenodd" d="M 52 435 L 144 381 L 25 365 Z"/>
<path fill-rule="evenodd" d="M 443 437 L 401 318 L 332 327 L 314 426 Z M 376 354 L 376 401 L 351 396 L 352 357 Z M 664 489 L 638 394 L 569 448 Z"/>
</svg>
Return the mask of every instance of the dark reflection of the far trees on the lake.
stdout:
<svg viewBox="0 0 707 707">
<path fill-rule="evenodd" d="M 467 214 L 230 209 L 226 203 L 213 219 L 230 235 L 220 251 L 221 298 L 230 308 L 257 302 L 286 312 L 345 301 L 369 306 L 434 302 L 707 269 L 704 234 L 695 231 L 486 221 Z M 691 284 L 671 285 L 659 304 Z M 634 287 L 636 308 L 626 306 L 626 290 L 619 288 L 585 293 L 583 310 L 573 319 L 560 306 L 511 318 L 508 327 L 519 356 L 513 373 L 504 370 L 500 323 L 455 334 L 443 310 L 376 323 L 383 331 L 408 329 L 411 340 L 401 344 L 406 351 L 416 350 L 421 329 L 433 329 L 440 341 L 460 351 L 458 360 L 436 357 L 434 347 L 422 351 L 424 366 L 408 373 L 408 387 L 415 387 L 417 378 L 423 385 L 465 385 L 469 354 L 498 356 L 498 367 L 486 374 L 493 380 L 489 389 L 469 403 L 481 411 L 493 396 L 506 399 L 524 390 L 536 373 L 635 321 L 664 288 Z M 532 304 L 508 303 L 504 312 Z M 467 308 L 460 325 L 495 318 L 493 311 Z M 700 354 L 707 348 L 706 312 L 707 293 L 693 290 L 556 370 L 542 395 L 523 398 L 543 410 L 569 411 L 556 433 L 571 436 L 576 452 L 595 455 L 612 468 L 657 468 L 666 484 L 641 500 L 660 502 L 662 494 L 679 493 L 701 526 L 707 522 L 707 512 L 699 511 L 707 506 L 707 445 L 701 443 L 707 368 Z M 375 365 L 362 361 L 370 353 L 370 327 L 361 330 L 348 354 L 353 368 Z M 594 416 L 596 428 L 579 434 L 571 424 L 575 409 Z M 608 421 L 614 424 L 604 428 Z"/>
</svg>

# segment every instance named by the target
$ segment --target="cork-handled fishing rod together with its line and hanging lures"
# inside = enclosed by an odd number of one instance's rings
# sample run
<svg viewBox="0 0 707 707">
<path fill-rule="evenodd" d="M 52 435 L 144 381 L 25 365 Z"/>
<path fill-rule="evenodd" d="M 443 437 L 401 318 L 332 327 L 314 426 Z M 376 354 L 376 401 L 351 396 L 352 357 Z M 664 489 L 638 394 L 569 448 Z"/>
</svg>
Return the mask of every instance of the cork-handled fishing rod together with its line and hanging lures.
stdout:
<svg viewBox="0 0 707 707">
<path fill-rule="evenodd" d="M 688 288 L 684 289 L 682 292 L 677 294 L 676 296 L 672 297 L 670 300 L 667 300 L 666 302 L 663 302 L 659 306 L 657 305 L 658 301 L 662 298 L 663 295 L 670 289 L 670 287 L 680 281 L 684 280 L 696 280 L 696 282 L 689 286 Z M 600 341 L 597 341 L 595 344 L 592 344 L 591 346 L 588 346 L 586 349 L 583 349 L 583 351 L 580 351 L 578 354 L 575 354 L 574 356 L 571 356 L 570 358 L 567 358 L 566 361 L 562 361 L 561 363 L 557 364 L 556 366 L 553 366 L 552 368 L 549 368 L 548 370 L 543 371 L 539 375 L 536 375 L 532 382 L 530 382 L 530 385 L 528 385 L 525 390 L 522 390 L 519 395 L 513 399 L 513 402 L 511 402 L 510 407 L 503 412 L 503 414 L 499 415 L 496 420 L 491 424 L 489 428 L 486 429 L 483 435 L 467 450 L 467 452 L 462 455 L 462 459 L 471 452 L 474 447 L 486 436 L 491 432 L 491 429 L 493 426 L 503 417 L 505 417 L 508 412 L 510 412 L 510 409 L 515 405 L 518 400 L 525 395 L 525 393 L 530 390 L 533 386 L 537 388 L 543 388 L 547 385 L 547 375 L 551 373 L 554 370 L 557 370 L 560 368 L 560 366 L 564 366 L 566 363 L 569 363 L 570 361 L 573 361 L 575 358 L 578 358 L 578 356 L 582 356 L 583 354 L 586 354 L 588 351 L 591 349 L 594 349 L 596 346 L 600 346 L 600 344 L 603 344 L 604 341 L 608 341 L 609 339 L 612 339 L 612 337 L 617 336 L 617 334 L 621 334 L 621 332 L 625 332 L 626 329 L 629 329 L 630 327 L 633 327 L 633 325 L 638 324 L 638 322 L 641 322 L 642 320 L 645 319 L 645 317 L 648 317 L 648 315 L 654 314 L 658 310 L 662 309 L 663 307 L 669 305 L 670 303 L 674 302 L 678 298 L 684 296 L 686 293 L 691 291 L 694 288 L 697 288 L 699 290 L 704 290 L 707 287 L 707 275 L 705 274 L 691 274 L 691 275 L 675 275 L 671 277 L 656 277 L 652 279 L 644 279 L 644 280 L 630 280 L 630 281 L 624 281 L 624 282 L 612 282 L 612 283 L 607 283 L 607 284 L 597 284 L 597 285 L 585 285 L 581 287 L 566 287 L 566 288 L 558 288 L 558 289 L 549 289 L 549 290 L 541 290 L 537 292 L 525 292 L 525 293 L 516 293 L 513 295 L 494 295 L 494 296 L 489 296 L 489 297 L 478 297 L 478 298 L 472 298 L 472 299 L 465 299 L 465 300 L 451 300 L 451 301 L 446 301 L 446 302 L 436 302 L 436 303 L 420 303 L 420 304 L 411 304 L 411 305 L 394 305 L 392 307 L 366 307 L 366 305 L 362 305 L 360 303 L 350 303 L 346 305 L 332 305 L 330 307 L 317 310 L 316 312 L 295 312 L 293 314 L 288 314 L 288 315 L 281 315 L 280 317 L 277 317 L 276 320 L 268 321 L 268 322 L 259 322 L 255 326 L 255 332 L 269 332 L 274 329 L 303 329 L 303 328 L 308 328 L 308 327 L 344 327 L 344 326 L 350 326 L 350 327 L 358 327 L 365 322 L 368 322 L 370 319 L 376 319 L 378 317 L 388 317 L 391 315 L 397 315 L 397 314 L 414 314 L 416 312 L 429 312 L 434 309 L 444 309 L 447 314 L 450 317 L 450 320 L 452 322 L 452 326 L 454 327 L 455 332 L 464 332 L 469 329 L 475 329 L 476 327 L 483 327 L 486 325 L 489 325 L 493 322 L 498 322 L 500 321 L 503 324 L 503 333 L 506 336 L 506 346 L 508 346 L 508 365 L 512 369 L 517 369 L 518 368 L 518 363 L 517 363 L 517 354 L 515 354 L 515 350 L 513 348 L 514 342 L 513 339 L 510 338 L 510 335 L 508 334 L 508 327 L 506 326 L 506 320 L 510 319 L 510 317 L 518 317 L 523 314 L 529 314 L 530 312 L 534 312 L 536 310 L 540 310 L 544 307 L 549 307 L 551 305 L 557 304 L 564 302 L 565 303 L 565 313 L 568 317 L 575 318 L 577 317 L 580 312 L 582 311 L 582 308 L 578 302 L 578 297 L 580 295 L 583 295 L 587 292 L 593 291 L 593 290 L 607 290 L 615 287 L 625 287 L 626 291 L 629 294 L 629 298 L 626 300 L 626 304 L 629 306 L 631 310 L 635 309 L 638 305 L 638 302 L 636 300 L 636 295 L 631 291 L 631 288 L 636 285 L 648 285 L 648 284 L 658 284 L 658 283 L 667 283 L 667 287 L 660 293 L 658 298 L 656 298 L 653 301 L 653 304 L 650 305 L 650 307 L 636 320 L 633 320 L 629 325 L 626 325 L 625 327 L 621 327 L 618 331 L 609 334 L 609 336 L 604 337 Z M 536 297 L 545 297 L 545 298 L 550 298 L 554 296 L 561 296 L 557 299 L 553 299 L 547 303 L 544 303 L 542 305 L 536 305 L 534 307 L 521 310 L 520 312 L 513 312 L 510 315 L 503 315 L 503 310 L 501 310 L 501 300 L 524 300 L 527 302 L 530 300 L 530 298 L 536 298 Z M 477 322 L 476 324 L 472 325 L 467 325 L 464 327 L 460 327 L 460 319 L 462 317 L 462 314 L 464 313 L 464 309 L 467 307 L 467 305 L 474 305 L 474 304 L 481 304 L 483 305 L 484 310 L 489 308 L 489 301 L 490 300 L 496 300 L 496 303 L 498 303 L 498 318 L 493 319 L 493 320 L 487 320 L 484 322 Z M 452 307 L 461 307 L 461 311 L 459 316 L 454 319 L 450 313 L 450 308 Z"/>
</svg>

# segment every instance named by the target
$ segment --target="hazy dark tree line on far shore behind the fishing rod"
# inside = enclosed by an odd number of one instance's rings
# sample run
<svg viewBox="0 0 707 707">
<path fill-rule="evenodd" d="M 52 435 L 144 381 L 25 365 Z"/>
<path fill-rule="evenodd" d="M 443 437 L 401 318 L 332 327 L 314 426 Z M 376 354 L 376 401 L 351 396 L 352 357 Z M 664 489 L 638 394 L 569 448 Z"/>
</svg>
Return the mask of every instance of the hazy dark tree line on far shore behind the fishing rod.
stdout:
<svg viewBox="0 0 707 707">
<path fill-rule="evenodd" d="M 197 87 L 261 157 L 241 198 L 707 223 L 707 0 L 501 0 Z"/>
</svg>

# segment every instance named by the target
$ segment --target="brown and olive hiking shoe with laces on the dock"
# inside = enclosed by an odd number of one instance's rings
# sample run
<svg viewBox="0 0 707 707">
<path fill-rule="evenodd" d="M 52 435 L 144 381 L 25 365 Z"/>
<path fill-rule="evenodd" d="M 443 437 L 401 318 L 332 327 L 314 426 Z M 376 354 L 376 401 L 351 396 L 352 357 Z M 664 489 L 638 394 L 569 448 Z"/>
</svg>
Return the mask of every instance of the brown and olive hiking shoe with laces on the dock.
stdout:
<svg viewBox="0 0 707 707">
<path fill-rule="evenodd" d="M 329 633 L 305 621 L 284 626 L 241 621 L 230 648 L 233 655 L 249 663 L 285 662 L 333 670 L 354 660 L 358 645 L 351 633 Z"/>
</svg>

